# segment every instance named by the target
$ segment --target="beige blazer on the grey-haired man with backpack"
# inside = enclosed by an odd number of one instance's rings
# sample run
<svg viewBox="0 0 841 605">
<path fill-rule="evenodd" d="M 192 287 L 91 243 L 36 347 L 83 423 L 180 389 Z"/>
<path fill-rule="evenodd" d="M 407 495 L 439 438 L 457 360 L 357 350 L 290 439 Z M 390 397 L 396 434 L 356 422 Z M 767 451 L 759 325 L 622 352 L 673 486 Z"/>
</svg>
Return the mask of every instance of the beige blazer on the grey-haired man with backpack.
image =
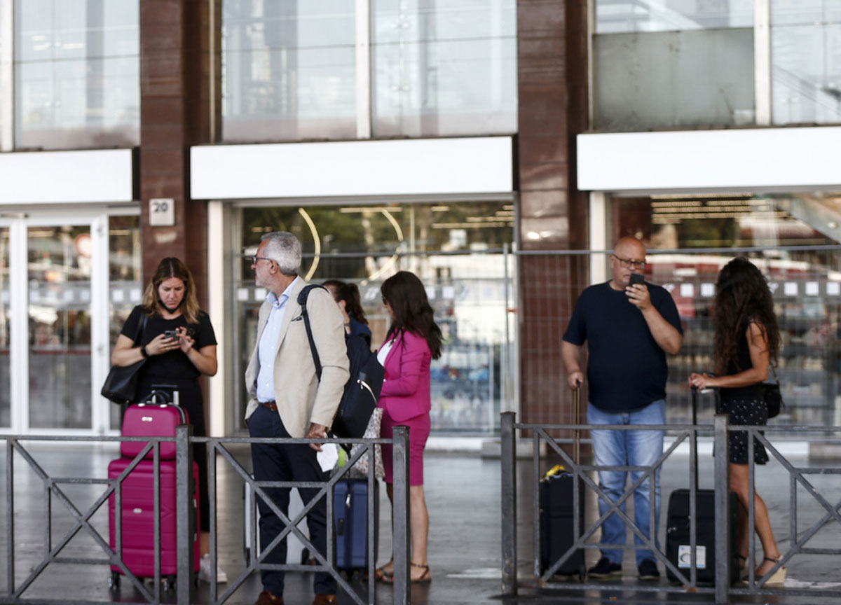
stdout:
<svg viewBox="0 0 841 605">
<path fill-rule="evenodd" d="M 330 293 L 321 288 L 309 292 L 307 313 L 312 327 L 315 349 L 321 360 L 321 381 L 315 375 L 315 363 L 309 351 L 309 340 L 298 304 L 298 294 L 307 285 L 299 279 L 289 295 L 280 327 L 278 356 L 274 362 L 274 396 L 283 426 L 291 437 L 304 437 L 309 424 L 330 428 L 341 394 L 350 372 L 345 345 L 344 320 Z M 257 342 L 246 368 L 248 407 L 246 420 L 257 409 L 257 371 L 260 360 L 257 349 L 266 327 L 271 304 L 264 301 L 257 323 Z"/>
</svg>

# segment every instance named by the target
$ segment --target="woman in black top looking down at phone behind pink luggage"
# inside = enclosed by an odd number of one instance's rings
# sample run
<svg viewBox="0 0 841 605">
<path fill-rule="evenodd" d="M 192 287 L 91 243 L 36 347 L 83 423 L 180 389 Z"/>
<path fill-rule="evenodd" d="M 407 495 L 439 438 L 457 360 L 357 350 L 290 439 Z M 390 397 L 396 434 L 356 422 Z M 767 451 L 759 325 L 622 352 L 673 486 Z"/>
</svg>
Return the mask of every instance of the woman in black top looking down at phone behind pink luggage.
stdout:
<svg viewBox="0 0 841 605">
<path fill-rule="evenodd" d="M 140 346 L 135 347 L 135 334 L 144 318 Z M 165 332 L 177 336 L 169 337 Z M 174 257 L 165 258 L 158 264 L 143 293 L 142 303 L 132 309 L 125 320 L 111 354 L 111 363 L 130 366 L 144 357 L 146 362 L 140 368 L 136 401 L 145 401 L 155 385 L 172 385 L 177 388 L 179 403 L 193 424 L 193 434 L 207 435 L 198 376 L 216 373 L 216 336 L 208 314 L 198 308 L 193 276 L 181 260 Z M 198 463 L 200 548 L 204 555 L 209 552 L 210 535 L 204 444 L 193 445 L 193 460 Z M 209 557 L 204 558 L 207 563 L 202 561 L 203 573 L 200 575 L 209 577 Z"/>
</svg>

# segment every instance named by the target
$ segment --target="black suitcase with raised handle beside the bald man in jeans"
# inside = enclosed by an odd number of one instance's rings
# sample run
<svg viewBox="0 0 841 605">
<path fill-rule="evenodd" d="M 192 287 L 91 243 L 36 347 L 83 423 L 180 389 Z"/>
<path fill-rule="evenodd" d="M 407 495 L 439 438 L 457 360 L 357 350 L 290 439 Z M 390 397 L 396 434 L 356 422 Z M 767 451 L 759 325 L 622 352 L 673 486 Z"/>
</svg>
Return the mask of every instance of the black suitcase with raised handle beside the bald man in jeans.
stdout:
<svg viewBox="0 0 841 605">
<path fill-rule="evenodd" d="M 579 423 L 581 388 L 574 391 L 575 424 Z M 573 460 L 579 463 L 579 431 L 573 433 Z M 540 508 L 540 569 L 547 571 L 574 543 L 574 475 L 559 472 L 541 479 L 537 487 Z M 579 477 L 579 535 L 584 532 L 584 480 Z M 584 549 L 576 550 L 555 572 L 561 576 L 577 574 L 584 578 Z"/>
</svg>

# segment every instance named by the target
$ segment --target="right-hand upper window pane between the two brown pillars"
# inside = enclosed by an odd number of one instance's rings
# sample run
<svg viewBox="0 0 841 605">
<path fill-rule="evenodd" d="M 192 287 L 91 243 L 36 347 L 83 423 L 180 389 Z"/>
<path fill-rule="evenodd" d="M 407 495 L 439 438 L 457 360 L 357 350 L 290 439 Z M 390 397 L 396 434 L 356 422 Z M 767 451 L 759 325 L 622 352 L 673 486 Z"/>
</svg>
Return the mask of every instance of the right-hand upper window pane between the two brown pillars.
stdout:
<svg viewBox="0 0 841 605">
<path fill-rule="evenodd" d="M 513 0 L 373 0 L 377 136 L 516 130 Z"/>
</svg>

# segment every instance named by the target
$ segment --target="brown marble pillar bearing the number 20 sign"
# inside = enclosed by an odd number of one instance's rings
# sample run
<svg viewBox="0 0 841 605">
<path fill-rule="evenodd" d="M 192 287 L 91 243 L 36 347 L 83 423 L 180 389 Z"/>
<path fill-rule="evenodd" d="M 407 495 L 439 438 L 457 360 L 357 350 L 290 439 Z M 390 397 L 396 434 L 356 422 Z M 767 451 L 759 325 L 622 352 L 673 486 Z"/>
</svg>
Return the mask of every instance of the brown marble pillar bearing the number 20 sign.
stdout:
<svg viewBox="0 0 841 605">
<path fill-rule="evenodd" d="M 189 149 L 213 142 L 218 132 L 220 104 L 212 101 L 220 90 L 220 70 L 212 50 L 218 51 L 220 28 L 211 10 L 218 11 L 219 3 L 140 0 L 144 281 L 161 258 L 177 256 L 193 272 L 203 307 L 207 304 L 207 203 L 190 199 Z M 174 200 L 172 226 L 149 224 L 149 200 L 160 197 Z"/>
</svg>

